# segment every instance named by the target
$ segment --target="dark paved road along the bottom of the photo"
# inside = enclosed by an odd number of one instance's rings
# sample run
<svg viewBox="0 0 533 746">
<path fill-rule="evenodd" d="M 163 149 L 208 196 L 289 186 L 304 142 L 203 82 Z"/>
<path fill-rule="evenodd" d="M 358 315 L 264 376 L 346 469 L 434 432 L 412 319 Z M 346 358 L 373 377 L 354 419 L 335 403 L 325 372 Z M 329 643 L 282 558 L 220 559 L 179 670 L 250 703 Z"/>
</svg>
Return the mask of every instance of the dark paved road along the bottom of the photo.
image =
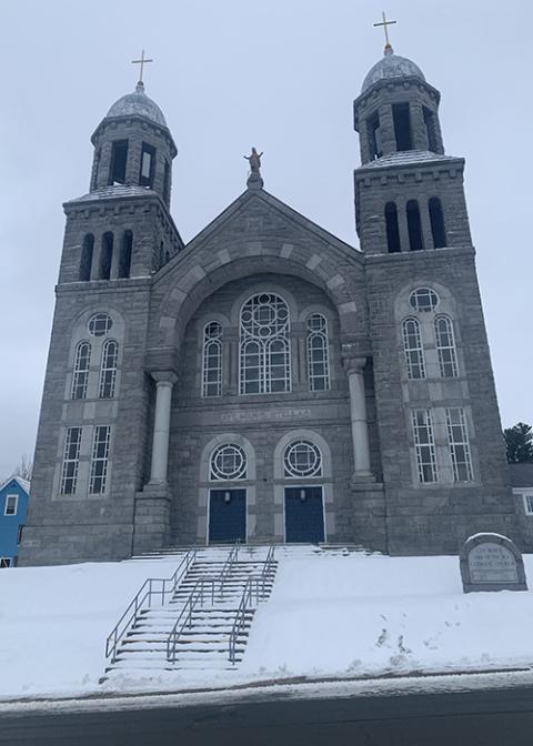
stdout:
<svg viewBox="0 0 533 746">
<path fill-rule="evenodd" d="M 0 715 L 3 746 L 532 746 L 533 688 Z"/>
</svg>

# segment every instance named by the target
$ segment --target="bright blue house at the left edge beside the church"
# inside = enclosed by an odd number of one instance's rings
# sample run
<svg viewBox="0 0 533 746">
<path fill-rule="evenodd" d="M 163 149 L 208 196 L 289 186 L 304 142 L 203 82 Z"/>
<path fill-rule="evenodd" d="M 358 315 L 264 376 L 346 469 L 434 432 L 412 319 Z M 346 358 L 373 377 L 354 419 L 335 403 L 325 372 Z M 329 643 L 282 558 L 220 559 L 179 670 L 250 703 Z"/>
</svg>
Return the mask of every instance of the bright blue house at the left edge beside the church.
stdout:
<svg viewBox="0 0 533 746">
<path fill-rule="evenodd" d="M 17 565 L 29 494 L 30 483 L 20 476 L 0 485 L 0 568 Z"/>
</svg>

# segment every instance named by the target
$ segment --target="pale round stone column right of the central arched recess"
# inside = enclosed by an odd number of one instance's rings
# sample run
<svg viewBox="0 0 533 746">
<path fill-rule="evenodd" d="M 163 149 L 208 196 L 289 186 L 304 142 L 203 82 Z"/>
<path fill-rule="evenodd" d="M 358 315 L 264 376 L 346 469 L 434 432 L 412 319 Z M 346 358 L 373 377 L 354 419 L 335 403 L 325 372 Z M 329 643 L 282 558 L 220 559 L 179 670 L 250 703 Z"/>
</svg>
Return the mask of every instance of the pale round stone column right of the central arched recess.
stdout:
<svg viewBox="0 0 533 746">
<path fill-rule="evenodd" d="M 350 420 L 352 423 L 354 480 L 372 476 L 370 470 L 369 426 L 364 397 L 363 369 L 366 357 L 344 357 L 343 364 L 350 389 Z"/>
</svg>

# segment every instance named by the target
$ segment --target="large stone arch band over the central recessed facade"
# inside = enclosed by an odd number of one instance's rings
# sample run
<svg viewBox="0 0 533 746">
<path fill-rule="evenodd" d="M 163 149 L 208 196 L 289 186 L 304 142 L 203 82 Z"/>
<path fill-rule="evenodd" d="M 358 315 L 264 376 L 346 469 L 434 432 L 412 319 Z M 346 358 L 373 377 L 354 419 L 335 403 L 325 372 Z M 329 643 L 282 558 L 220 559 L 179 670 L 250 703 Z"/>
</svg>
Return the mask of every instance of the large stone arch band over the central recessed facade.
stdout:
<svg viewBox="0 0 533 746">
<path fill-rule="evenodd" d="M 245 248 L 237 243 L 231 253 L 224 250 L 213 255 L 198 249 L 177 258 L 172 272 L 161 279 L 161 300 L 151 321 L 153 346 L 179 349 L 190 317 L 209 295 L 234 280 L 259 273 L 296 276 L 320 288 L 339 313 L 341 333 L 368 335 L 362 260 L 355 252 L 352 271 L 346 272 L 346 256 L 341 262 L 336 255 L 321 259 L 310 249 L 292 244 L 280 243 L 273 250 L 255 243 L 259 248 L 253 255 L 247 255 Z M 165 285 L 171 286 L 164 290 Z"/>
</svg>

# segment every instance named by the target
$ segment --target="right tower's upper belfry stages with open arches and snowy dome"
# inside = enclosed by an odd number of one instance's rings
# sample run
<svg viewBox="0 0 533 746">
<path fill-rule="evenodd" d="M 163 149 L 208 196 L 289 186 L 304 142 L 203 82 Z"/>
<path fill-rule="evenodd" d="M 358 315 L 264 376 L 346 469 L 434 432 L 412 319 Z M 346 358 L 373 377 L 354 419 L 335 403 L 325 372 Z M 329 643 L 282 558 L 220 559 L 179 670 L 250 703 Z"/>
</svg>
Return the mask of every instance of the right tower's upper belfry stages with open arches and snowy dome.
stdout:
<svg viewBox="0 0 533 746">
<path fill-rule="evenodd" d="M 389 42 L 364 78 L 353 104 L 361 151 L 354 177 L 358 233 L 368 254 L 471 245 L 464 159 L 444 153 L 440 99 Z"/>
</svg>

